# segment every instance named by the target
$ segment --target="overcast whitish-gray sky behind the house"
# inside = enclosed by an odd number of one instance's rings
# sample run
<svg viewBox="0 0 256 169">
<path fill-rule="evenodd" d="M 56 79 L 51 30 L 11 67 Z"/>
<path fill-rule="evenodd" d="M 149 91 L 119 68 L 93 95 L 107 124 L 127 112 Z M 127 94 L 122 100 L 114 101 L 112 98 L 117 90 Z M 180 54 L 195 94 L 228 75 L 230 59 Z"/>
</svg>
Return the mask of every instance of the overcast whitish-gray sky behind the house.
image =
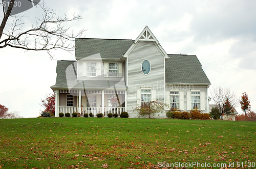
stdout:
<svg viewBox="0 0 256 169">
<path fill-rule="evenodd" d="M 45 0 L 66 23 L 86 38 L 136 39 L 147 25 L 168 54 L 196 54 L 211 86 L 246 92 L 256 110 L 256 1 L 67 1 Z M 21 13 L 31 26 L 42 11 Z M 0 14 L 2 21 L 3 15 Z M 11 20 L 11 19 L 10 19 Z M 8 20 L 8 21 L 10 21 Z M 26 27 L 24 27 L 26 29 Z M 75 52 L 0 49 L 0 104 L 19 115 L 38 117 L 39 105 L 55 85 L 57 60 L 75 60 Z M 212 87 L 210 87 L 212 88 Z M 240 106 L 236 108 L 242 112 Z"/>
</svg>

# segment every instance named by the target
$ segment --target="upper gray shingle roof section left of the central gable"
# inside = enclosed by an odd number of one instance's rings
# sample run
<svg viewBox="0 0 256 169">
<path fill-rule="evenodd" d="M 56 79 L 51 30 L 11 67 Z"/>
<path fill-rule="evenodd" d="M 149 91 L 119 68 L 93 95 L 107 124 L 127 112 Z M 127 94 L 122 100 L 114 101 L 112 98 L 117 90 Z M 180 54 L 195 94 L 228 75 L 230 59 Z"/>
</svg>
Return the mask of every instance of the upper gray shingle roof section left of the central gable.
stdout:
<svg viewBox="0 0 256 169">
<path fill-rule="evenodd" d="M 133 43 L 134 40 L 77 38 L 76 58 L 100 53 L 101 58 L 120 59 Z"/>
</svg>

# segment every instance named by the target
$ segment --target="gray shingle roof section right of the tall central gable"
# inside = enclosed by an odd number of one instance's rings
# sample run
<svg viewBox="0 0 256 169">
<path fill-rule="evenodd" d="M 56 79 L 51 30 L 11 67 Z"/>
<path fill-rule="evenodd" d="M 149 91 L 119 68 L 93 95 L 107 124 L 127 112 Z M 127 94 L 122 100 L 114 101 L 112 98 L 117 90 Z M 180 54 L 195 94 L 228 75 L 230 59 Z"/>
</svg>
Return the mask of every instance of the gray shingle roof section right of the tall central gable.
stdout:
<svg viewBox="0 0 256 169">
<path fill-rule="evenodd" d="M 165 81 L 168 83 L 201 83 L 210 81 L 196 55 L 168 54 L 165 63 Z"/>
</svg>

